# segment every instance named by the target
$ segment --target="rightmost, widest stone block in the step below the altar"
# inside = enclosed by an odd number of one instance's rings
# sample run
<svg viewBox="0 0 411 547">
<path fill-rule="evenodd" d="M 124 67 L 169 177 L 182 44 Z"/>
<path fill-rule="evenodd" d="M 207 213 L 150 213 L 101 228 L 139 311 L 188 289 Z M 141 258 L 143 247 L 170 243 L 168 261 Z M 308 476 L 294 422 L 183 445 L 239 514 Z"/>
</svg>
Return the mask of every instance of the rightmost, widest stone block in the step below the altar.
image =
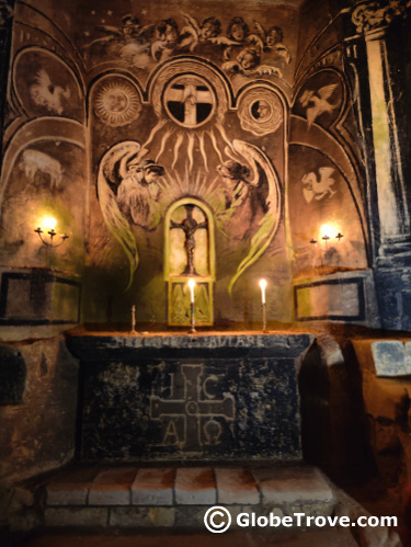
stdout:
<svg viewBox="0 0 411 547">
<path fill-rule="evenodd" d="M 255 468 L 263 503 L 329 503 L 333 493 L 318 469 L 309 466 Z"/>
</svg>

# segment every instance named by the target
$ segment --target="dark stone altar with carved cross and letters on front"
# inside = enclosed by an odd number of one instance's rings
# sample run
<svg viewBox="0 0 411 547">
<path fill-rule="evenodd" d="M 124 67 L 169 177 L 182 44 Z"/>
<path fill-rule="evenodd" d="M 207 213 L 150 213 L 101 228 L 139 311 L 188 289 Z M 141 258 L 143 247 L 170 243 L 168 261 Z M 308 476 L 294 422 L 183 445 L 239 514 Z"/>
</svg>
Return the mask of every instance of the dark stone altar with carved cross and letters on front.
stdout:
<svg viewBox="0 0 411 547">
<path fill-rule="evenodd" d="M 71 334 L 83 460 L 301 459 L 309 334 Z"/>
</svg>

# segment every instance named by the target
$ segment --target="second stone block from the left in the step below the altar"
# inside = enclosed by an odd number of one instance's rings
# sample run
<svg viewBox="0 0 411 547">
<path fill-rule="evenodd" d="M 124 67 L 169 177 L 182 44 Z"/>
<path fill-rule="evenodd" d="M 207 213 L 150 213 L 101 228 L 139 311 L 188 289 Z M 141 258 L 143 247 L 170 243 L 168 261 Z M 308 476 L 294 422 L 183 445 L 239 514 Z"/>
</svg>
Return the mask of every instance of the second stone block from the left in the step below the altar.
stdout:
<svg viewBox="0 0 411 547">
<path fill-rule="evenodd" d="M 99 472 L 89 490 L 89 505 L 129 505 L 135 467 L 118 467 Z"/>
</svg>

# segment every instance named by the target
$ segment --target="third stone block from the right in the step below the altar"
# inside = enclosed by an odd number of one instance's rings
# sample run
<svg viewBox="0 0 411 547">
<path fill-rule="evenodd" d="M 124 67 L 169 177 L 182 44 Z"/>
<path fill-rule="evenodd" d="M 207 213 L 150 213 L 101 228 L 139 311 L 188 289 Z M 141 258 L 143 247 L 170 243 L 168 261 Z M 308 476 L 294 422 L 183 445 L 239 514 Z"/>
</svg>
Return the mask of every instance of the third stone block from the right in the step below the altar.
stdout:
<svg viewBox="0 0 411 547">
<path fill-rule="evenodd" d="M 175 477 L 175 503 L 209 505 L 216 503 L 216 479 L 208 467 L 180 468 Z"/>
</svg>

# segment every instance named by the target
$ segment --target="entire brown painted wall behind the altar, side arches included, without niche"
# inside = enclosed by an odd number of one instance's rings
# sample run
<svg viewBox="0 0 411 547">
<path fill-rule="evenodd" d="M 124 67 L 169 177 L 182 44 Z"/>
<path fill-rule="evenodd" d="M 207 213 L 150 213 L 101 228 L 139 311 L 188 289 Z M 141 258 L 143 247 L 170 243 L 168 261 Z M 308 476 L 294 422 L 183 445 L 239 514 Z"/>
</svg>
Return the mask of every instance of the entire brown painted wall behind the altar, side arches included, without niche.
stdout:
<svg viewBox="0 0 411 547">
<path fill-rule="evenodd" d="M 232 4 L 220 9 L 207 3 L 194 16 L 189 5 L 170 3 L 160 19 L 150 4 L 136 13 L 122 1 L 115 8 L 78 2 L 66 10 L 53 2 L 42 8 L 30 3 L 18 3 L 13 41 L 2 175 L 3 263 L 21 265 L 28 257 L 33 265 L 43 264 L 33 240 L 28 252 L 19 233 L 30 231 L 39 204 L 53 204 L 76 236 L 76 248 L 67 246 L 58 253 L 56 267 L 81 271 L 85 241 L 85 319 L 127 320 L 130 303 L 136 303 L 139 320 L 163 322 L 162 221 L 175 201 L 193 196 L 210 207 L 216 220 L 216 321 L 259 320 L 261 276 L 271 287 L 269 318 L 290 320 L 289 252 L 298 242 L 290 240 L 287 223 L 298 215 L 301 195 L 302 205 L 331 203 L 318 193 L 308 203 L 301 179 L 312 179 L 319 168 L 328 173 L 334 169 L 336 185 L 347 189 L 339 206 L 353 210 L 361 226 L 355 162 L 334 130 L 350 111 L 342 106 L 347 91 L 341 62 L 329 71 L 330 80 L 323 73 L 312 76 L 312 67 L 302 72 L 296 56 L 297 12 L 284 5 L 267 14 L 260 4 L 251 13 L 238 4 L 233 10 Z M 239 19 L 232 21 L 235 11 L 248 31 Z M 218 26 L 214 13 L 220 30 L 207 36 L 208 23 Z M 232 23 L 243 31 L 237 43 L 228 35 Z M 246 68 L 239 57 L 250 49 L 259 59 L 249 57 Z M 340 59 L 338 50 L 332 55 Z M 318 59 L 323 67 L 321 55 Z M 290 125 L 296 136 L 290 158 L 296 161 L 290 162 L 288 112 L 296 68 Z M 308 81 L 308 76 L 317 80 Z M 310 91 L 330 86 L 335 95 L 327 100 L 341 105 L 322 118 L 304 119 L 304 93 L 307 100 Z M 345 125 L 351 129 L 351 122 Z M 327 146 L 334 147 L 331 152 L 319 145 L 324 132 Z M 296 172 L 301 147 L 311 157 Z M 118 189 L 123 180 L 130 183 L 144 171 L 145 162 L 163 172 L 149 205 L 142 200 L 147 218 L 141 224 L 119 206 Z M 328 189 L 324 198 L 334 203 L 335 187 Z M 294 192 L 299 195 L 294 200 L 297 213 L 289 205 Z M 27 215 L 10 230 L 22 208 Z M 363 266 L 362 228 L 355 230 L 357 264 Z"/>
</svg>

